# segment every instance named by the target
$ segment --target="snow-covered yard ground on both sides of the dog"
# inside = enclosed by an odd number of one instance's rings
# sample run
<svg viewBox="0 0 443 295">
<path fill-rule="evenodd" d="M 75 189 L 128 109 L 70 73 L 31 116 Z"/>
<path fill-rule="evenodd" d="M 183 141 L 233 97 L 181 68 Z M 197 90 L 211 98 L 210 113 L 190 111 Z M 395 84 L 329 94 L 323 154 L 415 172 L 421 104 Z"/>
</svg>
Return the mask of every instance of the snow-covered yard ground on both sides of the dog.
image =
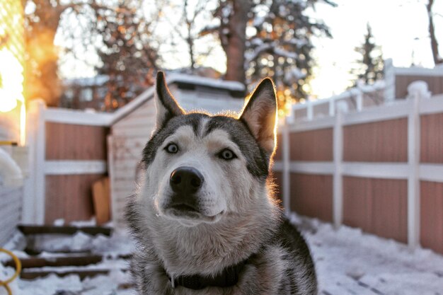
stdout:
<svg viewBox="0 0 443 295">
<path fill-rule="evenodd" d="M 292 221 L 303 230 L 316 261 L 318 282 L 322 295 L 443 295 L 443 256 L 430 250 L 410 250 L 401 243 L 363 234 L 358 229 L 342 226 L 335 230 L 330 224 L 316 219 L 292 216 Z M 23 295 L 129 295 L 130 288 L 127 261 L 123 259 L 131 250 L 131 243 L 124 233 L 111 238 L 76 233 L 74 238 L 45 238 L 42 248 L 76 250 L 105 256 L 96 265 L 75 267 L 76 270 L 110 270 L 81 280 L 78 275 L 59 278 L 54 274 L 33 281 L 13 282 L 13 294 Z M 16 244 L 16 243 L 15 243 Z M 11 247 L 13 241 L 8 243 Z M 26 254 L 15 251 L 20 257 Z M 57 254 L 59 255 L 59 254 Z M 43 252 L 40 257 L 57 256 Z M 5 260 L 5 256 L 0 256 Z M 0 279 L 9 277 L 11 267 L 1 267 Z M 53 270 L 45 267 L 45 270 Z M 56 272 L 69 270 L 57 267 Z M 0 290 L 0 294 L 6 294 Z"/>
</svg>

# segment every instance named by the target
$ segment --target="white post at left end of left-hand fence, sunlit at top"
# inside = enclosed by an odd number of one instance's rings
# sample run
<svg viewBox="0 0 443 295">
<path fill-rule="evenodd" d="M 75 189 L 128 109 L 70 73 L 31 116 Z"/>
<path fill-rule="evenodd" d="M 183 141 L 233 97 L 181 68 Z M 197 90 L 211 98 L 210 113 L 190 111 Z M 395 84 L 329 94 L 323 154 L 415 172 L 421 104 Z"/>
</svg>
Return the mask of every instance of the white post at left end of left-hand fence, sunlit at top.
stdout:
<svg viewBox="0 0 443 295">
<path fill-rule="evenodd" d="M 45 222 L 45 102 L 32 100 L 26 120 L 26 142 L 29 146 L 29 178 L 25 181 L 22 222 Z"/>
</svg>

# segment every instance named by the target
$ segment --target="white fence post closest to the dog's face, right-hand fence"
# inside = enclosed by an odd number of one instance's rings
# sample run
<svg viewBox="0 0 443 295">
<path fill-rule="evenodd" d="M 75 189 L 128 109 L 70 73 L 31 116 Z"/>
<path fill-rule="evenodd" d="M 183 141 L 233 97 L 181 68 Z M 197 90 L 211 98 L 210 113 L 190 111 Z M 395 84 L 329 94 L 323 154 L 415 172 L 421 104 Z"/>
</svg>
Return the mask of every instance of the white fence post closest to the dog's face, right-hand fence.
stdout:
<svg viewBox="0 0 443 295">
<path fill-rule="evenodd" d="M 291 214 L 291 186 L 289 185 L 291 181 L 291 171 L 290 171 L 290 145 L 289 145 L 289 124 L 284 119 L 284 126 L 282 129 L 282 160 L 283 160 L 283 172 L 282 172 L 282 199 L 284 213 L 289 216 Z"/>
</svg>

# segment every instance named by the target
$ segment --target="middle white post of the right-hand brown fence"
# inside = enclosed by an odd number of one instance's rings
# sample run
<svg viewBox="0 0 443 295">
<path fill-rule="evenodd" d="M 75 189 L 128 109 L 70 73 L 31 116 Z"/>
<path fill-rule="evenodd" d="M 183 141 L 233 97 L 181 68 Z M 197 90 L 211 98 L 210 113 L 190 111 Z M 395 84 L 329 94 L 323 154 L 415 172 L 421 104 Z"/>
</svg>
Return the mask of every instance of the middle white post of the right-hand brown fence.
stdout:
<svg viewBox="0 0 443 295">
<path fill-rule="evenodd" d="M 343 112 L 337 109 L 333 129 L 333 222 L 338 227 L 343 223 Z"/>
</svg>

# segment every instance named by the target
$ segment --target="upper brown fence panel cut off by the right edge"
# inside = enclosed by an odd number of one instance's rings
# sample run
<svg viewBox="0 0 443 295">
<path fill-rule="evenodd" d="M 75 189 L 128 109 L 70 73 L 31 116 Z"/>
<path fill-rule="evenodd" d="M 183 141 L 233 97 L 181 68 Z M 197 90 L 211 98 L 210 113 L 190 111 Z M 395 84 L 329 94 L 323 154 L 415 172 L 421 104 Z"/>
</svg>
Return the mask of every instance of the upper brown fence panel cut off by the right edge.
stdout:
<svg viewBox="0 0 443 295">
<path fill-rule="evenodd" d="M 420 116 L 420 162 L 443 163 L 443 114 Z"/>
</svg>

